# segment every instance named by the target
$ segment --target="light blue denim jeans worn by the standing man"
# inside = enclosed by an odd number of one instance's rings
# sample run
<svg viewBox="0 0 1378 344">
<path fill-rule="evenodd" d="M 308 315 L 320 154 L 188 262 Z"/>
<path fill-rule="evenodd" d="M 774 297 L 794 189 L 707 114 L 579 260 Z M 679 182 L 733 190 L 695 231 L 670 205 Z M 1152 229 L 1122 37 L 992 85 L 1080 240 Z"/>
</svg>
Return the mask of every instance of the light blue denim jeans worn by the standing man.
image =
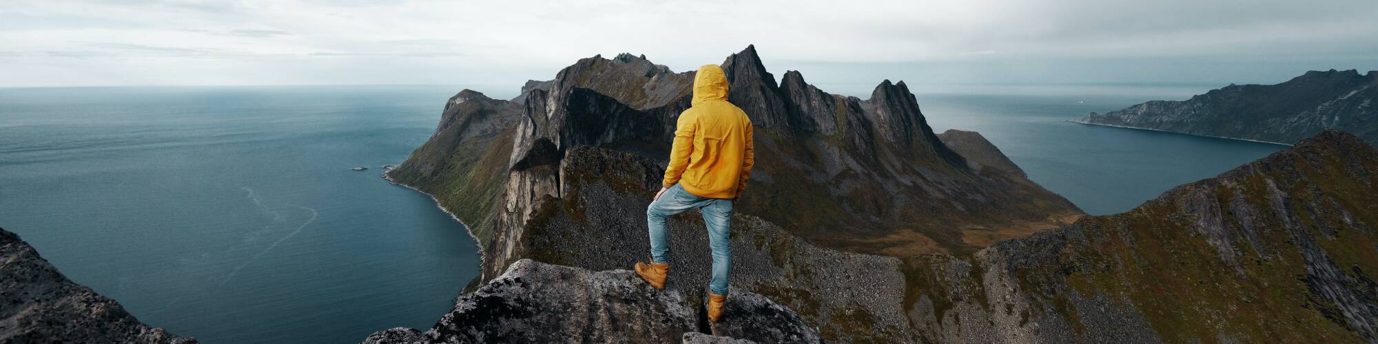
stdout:
<svg viewBox="0 0 1378 344">
<path fill-rule="evenodd" d="M 732 271 L 732 242 L 728 227 L 732 224 L 732 200 L 703 198 L 674 184 L 659 200 L 646 206 L 646 227 L 650 228 L 650 261 L 670 263 L 670 242 L 666 239 L 666 217 L 699 209 L 703 223 L 708 226 L 708 248 L 712 249 L 712 281 L 708 290 L 728 294 L 728 272 Z"/>
</svg>

